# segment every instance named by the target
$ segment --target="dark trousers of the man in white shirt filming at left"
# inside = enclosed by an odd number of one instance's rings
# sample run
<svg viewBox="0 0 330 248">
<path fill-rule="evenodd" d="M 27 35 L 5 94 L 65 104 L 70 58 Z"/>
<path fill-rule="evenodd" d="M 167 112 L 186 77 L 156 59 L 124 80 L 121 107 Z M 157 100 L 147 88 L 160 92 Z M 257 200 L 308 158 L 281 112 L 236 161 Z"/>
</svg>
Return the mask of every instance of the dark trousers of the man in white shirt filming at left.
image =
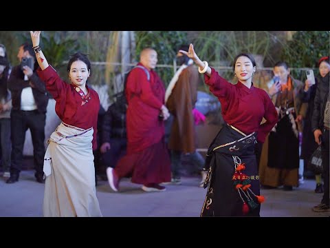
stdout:
<svg viewBox="0 0 330 248">
<path fill-rule="evenodd" d="M 45 156 L 46 114 L 39 113 L 38 110 L 12 110 L 10 118 L 12 135 L 12 164 L 10 166 L 10 175 L 18 175 L 21 172 L 25 132 L 29 128 L 33 144 L 34 168 L 36 169 L 36 174 L 42 176 L 43 158 Z"/>
</svg>

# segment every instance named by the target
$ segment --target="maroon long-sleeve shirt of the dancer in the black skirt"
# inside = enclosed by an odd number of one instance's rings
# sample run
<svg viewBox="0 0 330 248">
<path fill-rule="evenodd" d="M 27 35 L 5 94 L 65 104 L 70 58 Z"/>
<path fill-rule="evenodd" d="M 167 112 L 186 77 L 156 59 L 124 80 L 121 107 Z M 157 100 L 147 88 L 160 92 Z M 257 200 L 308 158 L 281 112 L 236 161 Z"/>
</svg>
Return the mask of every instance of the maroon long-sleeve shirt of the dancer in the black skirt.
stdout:
<svg viewBox="0 0 330 248">
<path fill-rule="evenodd" d="M 278 114 L 265 90 L 240 81 L 233 85 L 211 68 L 211 76 L 205 74 L 205 82 L 221 103 L 223 120 L 245 134 L 258 132 L 257 141 L 264 143 L 267 134 L 278 121 Z M 266 122 L 261 125 L 265 118 Z"/>
</svg>

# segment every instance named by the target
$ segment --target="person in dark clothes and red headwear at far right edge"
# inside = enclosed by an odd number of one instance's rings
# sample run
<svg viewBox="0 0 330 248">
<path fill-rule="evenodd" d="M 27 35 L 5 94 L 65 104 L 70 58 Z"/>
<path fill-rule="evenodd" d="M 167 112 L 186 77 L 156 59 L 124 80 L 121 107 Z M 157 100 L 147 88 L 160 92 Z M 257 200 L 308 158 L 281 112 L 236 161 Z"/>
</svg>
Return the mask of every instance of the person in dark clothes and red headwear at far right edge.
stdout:
<svg viewBox="0 0 330 248">
<path fill-rule="evenodd" d="M 314 110 L 311 118 L 311 131 L 314 133 L 315 142 L 321 145 L 322 167 L 324 176 L 324 194 L 321 203 L 313 207 L 313 211 L 330 211 L 329 208 L 329 56 L 324 56 L 318 61 L 320 76 L 316 87 Z"/>
</svg>

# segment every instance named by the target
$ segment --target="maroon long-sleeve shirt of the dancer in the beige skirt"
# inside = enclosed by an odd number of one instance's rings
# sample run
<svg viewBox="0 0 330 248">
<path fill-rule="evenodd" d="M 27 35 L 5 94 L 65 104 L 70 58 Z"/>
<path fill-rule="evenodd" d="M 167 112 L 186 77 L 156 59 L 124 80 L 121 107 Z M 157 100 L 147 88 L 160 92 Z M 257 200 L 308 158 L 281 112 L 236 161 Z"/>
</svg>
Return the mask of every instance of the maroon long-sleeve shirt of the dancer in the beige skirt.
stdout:
<svg viewBox="0 0 330 248">
<path fill-rule="evenodd" d="M 98 110 L 100 109 L 100 99 L 98 93 L 87 85 L 87 90 L 91 99 L 82 105 L 83 99 L 76 91 L 74 85 L 65 83 L 52 66 L 45 70 L 40 68 L 37 73 L 41 80 L 46 83 L 46 88 L 56 101 L 55 112 L 64 123 L 84 130 L 93 127 L 93 149 L 97 148 L 96 134 L 98 132 Z"/>
</svg>

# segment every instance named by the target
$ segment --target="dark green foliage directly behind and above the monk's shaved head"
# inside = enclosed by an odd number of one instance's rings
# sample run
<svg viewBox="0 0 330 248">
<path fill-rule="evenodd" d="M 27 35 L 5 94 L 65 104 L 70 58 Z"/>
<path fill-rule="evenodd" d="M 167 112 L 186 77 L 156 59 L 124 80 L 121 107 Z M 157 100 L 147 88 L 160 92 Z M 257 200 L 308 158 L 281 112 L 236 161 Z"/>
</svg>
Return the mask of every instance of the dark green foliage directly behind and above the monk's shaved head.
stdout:
<svg viewBox="0 0 330 248">
<path fill-rule="evenodd" d="M 135 31 L 136 60 L 140 61 L 140 52 L 144 48 L 153 48 L 158 54 L 158 64 L 172 65 L 180 45 L 188 43 L 187 34 L 183 31 Z M 156 68 L 165 85 L 173 77 L 173 68 Z"/>
</svg>

